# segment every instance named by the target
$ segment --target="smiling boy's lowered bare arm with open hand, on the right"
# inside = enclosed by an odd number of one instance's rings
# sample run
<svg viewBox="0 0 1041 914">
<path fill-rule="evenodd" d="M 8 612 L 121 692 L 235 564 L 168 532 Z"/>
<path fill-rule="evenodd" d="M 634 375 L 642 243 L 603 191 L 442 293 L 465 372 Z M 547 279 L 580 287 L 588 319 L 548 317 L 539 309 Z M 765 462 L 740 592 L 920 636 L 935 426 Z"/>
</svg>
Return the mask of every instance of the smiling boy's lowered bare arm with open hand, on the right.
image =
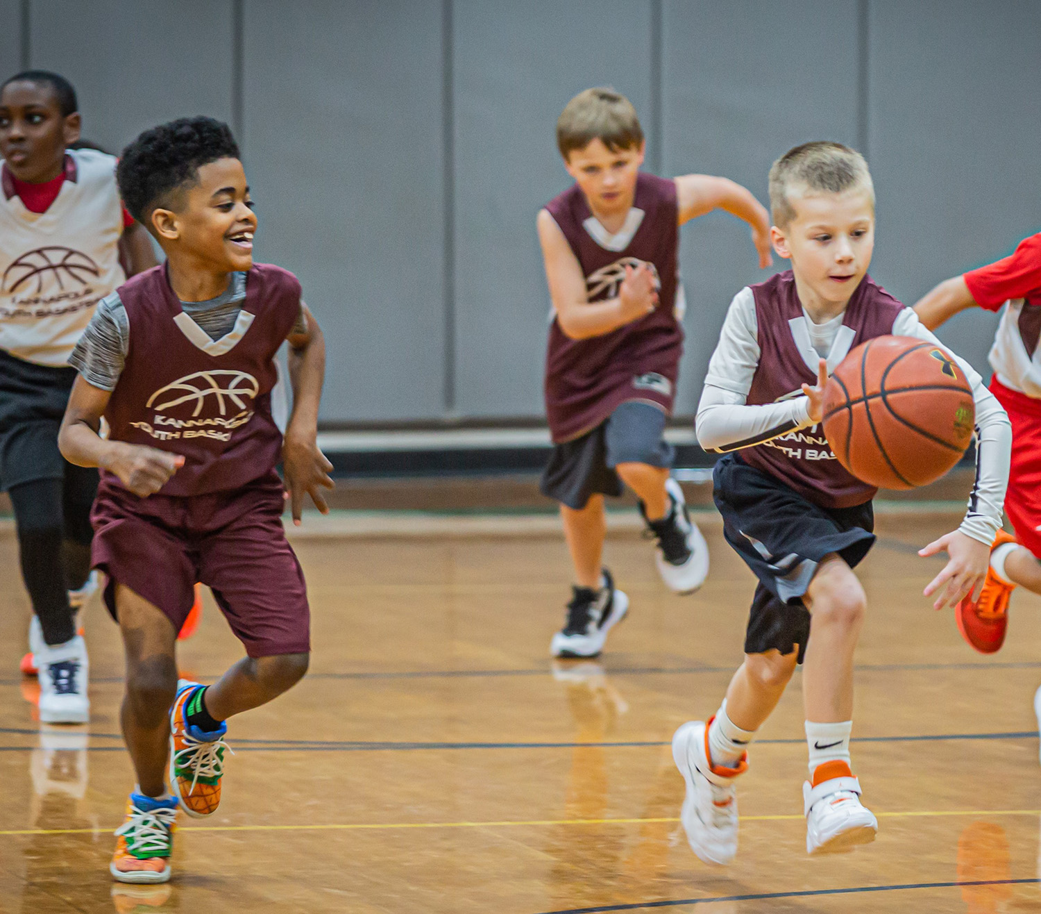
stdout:
<svg viewBox="0 0 1041 914">
<path fill-rule="evenodd" d="M 289 384 L 293 413 L 282 442 L 285 488 L 289 493 L 293 522 L 299 526 L 304 494 L 311 496 L 323 514 L 329 513 L 322 489 L 333 489 L 332 464 L 319 450 L 319 403 L 325 379 L 325 336 L 310 308 L 301 302 L 301 322 L 286 338 L 289 344 Z"/>
</svg>

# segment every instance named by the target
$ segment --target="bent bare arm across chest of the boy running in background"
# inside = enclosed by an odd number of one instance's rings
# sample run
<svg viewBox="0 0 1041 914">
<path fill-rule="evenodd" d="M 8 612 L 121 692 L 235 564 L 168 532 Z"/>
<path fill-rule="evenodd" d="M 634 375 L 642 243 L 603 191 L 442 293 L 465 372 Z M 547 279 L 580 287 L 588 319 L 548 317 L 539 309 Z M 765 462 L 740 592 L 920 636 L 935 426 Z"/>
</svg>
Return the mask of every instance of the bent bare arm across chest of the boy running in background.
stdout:
<svg viewBox="0 0 1041 914">
<path fill-rule="evenodd" d="M 566 336 L 573 340 L 600 337 L 655 310 L 658 291 L 645 264 L 636 270 L 626 267 L 626 278 L 615 298 L 589 301 L 579 260 L 548 211 L 539 211 L 536 227 L 553 310 Z"/>
</svg>

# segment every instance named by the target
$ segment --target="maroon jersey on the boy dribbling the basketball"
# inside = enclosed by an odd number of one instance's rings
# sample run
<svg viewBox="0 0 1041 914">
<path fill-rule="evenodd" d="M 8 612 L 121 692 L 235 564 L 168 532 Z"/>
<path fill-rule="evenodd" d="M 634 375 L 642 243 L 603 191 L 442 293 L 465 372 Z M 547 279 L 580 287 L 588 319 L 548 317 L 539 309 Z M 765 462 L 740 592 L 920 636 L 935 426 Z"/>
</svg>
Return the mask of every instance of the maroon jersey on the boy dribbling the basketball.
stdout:
<svg viewBox="0 0 1041 914">
<path fill-rule="evenodd" d="M 819 356 L 810 344 L 791 270 L 751 288 L 756 299 L 760 356 L 746 402 L 773 403 L 799 396 L 803 384 L 817 382 Z M 902 311 L 900 302 L 865 276 L 846 305 L 830 364 L 841 362 L 852 348 L 873 337 L 891 334 Z M 863 504 L 878 491 L 850 475 L 835 459 L 820 425 L 746 448 L 741 459 L 824 508 Z"/>
</svg>

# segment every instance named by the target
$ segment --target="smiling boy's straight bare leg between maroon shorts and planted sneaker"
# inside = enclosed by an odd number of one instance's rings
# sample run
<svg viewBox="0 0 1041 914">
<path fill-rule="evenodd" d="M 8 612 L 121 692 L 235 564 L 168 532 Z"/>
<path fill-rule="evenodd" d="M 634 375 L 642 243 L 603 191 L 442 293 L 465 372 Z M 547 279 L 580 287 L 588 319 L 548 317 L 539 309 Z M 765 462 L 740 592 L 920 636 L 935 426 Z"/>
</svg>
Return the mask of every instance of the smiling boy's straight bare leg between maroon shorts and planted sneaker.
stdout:
<svg viewBox="0 0 1041 914">
<path fill-rule="evenodd" d="M 177 632 L 157 607 L 122 584 L 116 609 L 127 658 L 123 737 L 146 796 L 166 793 L 170 708 L 177 692 Z"/>
</svg>

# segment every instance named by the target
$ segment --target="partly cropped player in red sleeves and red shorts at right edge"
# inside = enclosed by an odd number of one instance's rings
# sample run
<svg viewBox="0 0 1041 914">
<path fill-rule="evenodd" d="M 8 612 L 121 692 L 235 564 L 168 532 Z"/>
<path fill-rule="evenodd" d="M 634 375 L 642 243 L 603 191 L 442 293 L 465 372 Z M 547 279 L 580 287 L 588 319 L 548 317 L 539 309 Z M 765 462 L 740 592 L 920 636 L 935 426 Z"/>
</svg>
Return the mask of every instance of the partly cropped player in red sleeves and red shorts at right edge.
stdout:
<svg viewBox="0 0 1041 914">
<path fill-rule="evenodd" d="M 962 636 L 982 653 L 1005 643 L 1012 591 L 1019 586 L 1041 594 L 1041 233 L 1020 242 L 1008 257 L 941 282 L 914 306 L 935 329 L 967 307 L 998 311 L 1006 303 L 990 350 L 990 390 L 1012 421 L 1005 510 L 1016 535 L 997 532 L 980 598 L 958 607 Z"/>
</svg>

